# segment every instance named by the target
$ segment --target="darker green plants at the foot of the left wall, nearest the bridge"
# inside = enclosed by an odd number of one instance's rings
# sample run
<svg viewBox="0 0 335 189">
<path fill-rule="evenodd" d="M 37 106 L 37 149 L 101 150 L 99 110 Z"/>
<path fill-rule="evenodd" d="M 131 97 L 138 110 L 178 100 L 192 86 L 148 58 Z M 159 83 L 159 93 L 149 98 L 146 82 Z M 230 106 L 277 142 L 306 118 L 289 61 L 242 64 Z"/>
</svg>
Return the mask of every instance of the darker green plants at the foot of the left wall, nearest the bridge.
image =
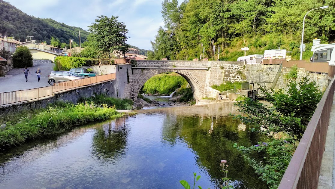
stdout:
<svg viewBox="0 0 335 189">
<path fill-rule="evenodd" d="M 133 105 L 133 101 L 130 99 L 119 99 L 119 98 L 113 98 L 113 97 L 107 97 L 104 94 L 95 94 L 94 96 L 90 97 L 90 98 L 80 98 L 78 100 L 81 103 L 84 102 L 94 102 L 95 104 L 97 104 L 98 106 L 104 107 L 105 104 L 107 106 L 112 106 L 116 109 L 133 109 L 132 105 Z"/>
</svg>

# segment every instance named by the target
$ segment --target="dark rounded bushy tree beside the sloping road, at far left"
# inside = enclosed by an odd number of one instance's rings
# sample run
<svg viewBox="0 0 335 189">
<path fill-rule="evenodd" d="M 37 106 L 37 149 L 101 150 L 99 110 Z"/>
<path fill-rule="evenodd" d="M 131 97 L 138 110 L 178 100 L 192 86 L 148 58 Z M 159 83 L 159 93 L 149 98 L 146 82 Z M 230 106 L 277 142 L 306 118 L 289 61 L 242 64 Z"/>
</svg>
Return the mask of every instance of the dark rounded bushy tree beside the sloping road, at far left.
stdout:
<svg viewBox="0 0 335 189">
<path fill-rule="evenodd" d="M 13 66 L 14 67 L 31 67 L 32 66 L 32 55 L 26 46 L 20 46 L 16 49 L 13 54 Z"/>
</svg>

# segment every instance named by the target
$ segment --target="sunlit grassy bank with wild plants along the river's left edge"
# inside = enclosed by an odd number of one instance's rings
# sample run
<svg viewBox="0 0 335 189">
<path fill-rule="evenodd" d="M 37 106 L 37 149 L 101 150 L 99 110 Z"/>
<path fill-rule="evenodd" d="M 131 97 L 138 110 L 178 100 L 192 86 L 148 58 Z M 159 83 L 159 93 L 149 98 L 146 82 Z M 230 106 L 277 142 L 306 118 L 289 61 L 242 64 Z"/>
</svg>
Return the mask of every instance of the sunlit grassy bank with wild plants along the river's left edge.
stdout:
<svg viewBox="0 0 335 189">
<path fill-rule="evenodd" d="M 19 145 L 27 140 L 56 135 L 81 124 L 120 117 L 115 108 L 95 107 L 94 103 L 56 103 L 39 110 L 25 110 L 0 117 L 6 127 L 0 129 L 0 149 Z"/>
</svg>

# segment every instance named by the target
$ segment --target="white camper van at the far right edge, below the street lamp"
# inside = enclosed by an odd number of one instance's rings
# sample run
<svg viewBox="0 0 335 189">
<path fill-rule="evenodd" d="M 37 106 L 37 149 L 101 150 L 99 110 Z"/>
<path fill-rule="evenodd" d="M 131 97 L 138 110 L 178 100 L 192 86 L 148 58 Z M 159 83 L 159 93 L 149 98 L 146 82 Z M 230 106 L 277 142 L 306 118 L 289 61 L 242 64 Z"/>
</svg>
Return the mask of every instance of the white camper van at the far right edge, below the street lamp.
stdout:
<svg viewBox="0 0 335 189">
<path fill-rule="evenodd" d="M 317 44 L 311 49 L 313 51 L 312 62 L 329 62 L 329 65 L 335 65 L 335 43 Z"/>
</svg>

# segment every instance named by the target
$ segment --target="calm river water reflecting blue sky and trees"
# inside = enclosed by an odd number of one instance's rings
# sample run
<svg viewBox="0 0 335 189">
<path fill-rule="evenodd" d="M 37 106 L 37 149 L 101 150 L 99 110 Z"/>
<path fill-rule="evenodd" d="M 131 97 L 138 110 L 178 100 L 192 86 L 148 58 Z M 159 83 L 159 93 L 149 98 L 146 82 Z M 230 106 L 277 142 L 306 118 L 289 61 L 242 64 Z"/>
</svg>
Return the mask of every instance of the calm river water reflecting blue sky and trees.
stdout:
<svg viewBox="0 0 335 189">
<path fill-rule="evenodd" d="M 218 188 L 220 160 L 235 188 L 267 188 L 234 143 L 262 136 L 232 120 L 233 103 L 139 110 L 0 152 L 0 188 Z M 255 157 L 257 158 L 257 157 Z"/>
</svg>

